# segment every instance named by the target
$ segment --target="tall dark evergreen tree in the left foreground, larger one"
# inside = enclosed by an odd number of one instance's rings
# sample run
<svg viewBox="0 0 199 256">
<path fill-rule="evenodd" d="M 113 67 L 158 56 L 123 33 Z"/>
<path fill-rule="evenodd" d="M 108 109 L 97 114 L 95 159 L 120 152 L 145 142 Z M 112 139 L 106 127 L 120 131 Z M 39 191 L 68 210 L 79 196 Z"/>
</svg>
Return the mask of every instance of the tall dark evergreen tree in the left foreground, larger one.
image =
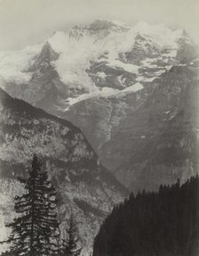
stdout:
<svg viewBox="0 0 199 256">
<path fill-rule="evenodd" d="M 20 217 L 7 225 L 12 228 L 7 243 L 11 243 L 13 255 L 44 256 L 56 252 L 56 238 L 59 235 L 56 193 L 41 166 L 34 155 L 29 178 L 19 179 L 25 187 L 25 193 L 15 197 L 14 209 Z"/>
</svg>

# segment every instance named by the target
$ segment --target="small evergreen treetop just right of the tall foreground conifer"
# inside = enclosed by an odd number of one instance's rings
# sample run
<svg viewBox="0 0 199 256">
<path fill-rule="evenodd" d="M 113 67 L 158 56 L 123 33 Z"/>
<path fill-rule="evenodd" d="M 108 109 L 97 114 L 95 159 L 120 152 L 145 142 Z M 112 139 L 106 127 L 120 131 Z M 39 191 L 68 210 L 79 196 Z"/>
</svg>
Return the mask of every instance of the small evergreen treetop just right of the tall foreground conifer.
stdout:
<svg viewBox="0 0 199 256">
<path fill-rule="evenodd" d="M 76 229 L 76 222 L 73 215 L 70 215 L 68 227 L 66 228 L 66 237 L 63 239 L 62 256 L 78 256 L 82 248 L 78 247 L 78 234 Z"/>
</svg>

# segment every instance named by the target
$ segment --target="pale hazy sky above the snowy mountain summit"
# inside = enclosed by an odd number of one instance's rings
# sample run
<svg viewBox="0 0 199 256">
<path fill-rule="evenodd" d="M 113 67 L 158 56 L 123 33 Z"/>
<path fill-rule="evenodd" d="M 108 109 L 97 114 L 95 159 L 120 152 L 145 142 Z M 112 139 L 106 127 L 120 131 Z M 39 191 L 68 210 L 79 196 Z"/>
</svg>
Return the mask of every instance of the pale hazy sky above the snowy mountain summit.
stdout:
<svg viewBox="0 0 199 256">
<path fill-rule="evenodd" d="M 199 43 L 199 0 L 0 0 L 0 50 L 33 45 L 54 30 L 97 18 L 165 23 Z"/>
</svg>

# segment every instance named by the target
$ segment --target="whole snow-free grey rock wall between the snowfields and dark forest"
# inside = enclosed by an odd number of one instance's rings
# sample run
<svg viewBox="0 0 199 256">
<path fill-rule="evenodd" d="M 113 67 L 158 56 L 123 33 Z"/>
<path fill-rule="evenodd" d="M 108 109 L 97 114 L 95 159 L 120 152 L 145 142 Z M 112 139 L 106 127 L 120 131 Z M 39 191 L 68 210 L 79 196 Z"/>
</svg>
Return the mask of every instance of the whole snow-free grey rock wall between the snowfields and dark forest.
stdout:
<svg viewBox="0 0 199 256">
<path fill-rule="evenodd" d="M 198 68 L 176 66 L 141 92 L 85 100 L 66 116 L 125 186 L 154 190 L 198 169 L 198 89 Z"/>
</svg>

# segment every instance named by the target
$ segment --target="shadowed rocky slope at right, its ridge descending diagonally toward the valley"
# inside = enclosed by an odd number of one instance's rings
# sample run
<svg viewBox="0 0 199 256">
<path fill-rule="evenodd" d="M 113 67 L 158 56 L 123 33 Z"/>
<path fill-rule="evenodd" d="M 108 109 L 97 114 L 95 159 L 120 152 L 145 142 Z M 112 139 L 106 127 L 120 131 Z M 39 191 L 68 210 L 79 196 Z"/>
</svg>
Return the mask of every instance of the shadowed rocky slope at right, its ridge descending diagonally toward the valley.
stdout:
<svg viewBox="0 0 199 256">
<path fill-rule="evenodd" d="M 173 67 L 147 102 L 123 120 L 112 139 L 122 145 L 122 157 L 126 150 L 131 152 L 116 170 L 123 184 L 133 191 L 154 190 L 177 178 L 184 182 L 198 171 L 198 96 L 198 68 Z M 110 149 L 118 158 L 118 147 L 110 142 L 103 151 Z"/>
</svg>

